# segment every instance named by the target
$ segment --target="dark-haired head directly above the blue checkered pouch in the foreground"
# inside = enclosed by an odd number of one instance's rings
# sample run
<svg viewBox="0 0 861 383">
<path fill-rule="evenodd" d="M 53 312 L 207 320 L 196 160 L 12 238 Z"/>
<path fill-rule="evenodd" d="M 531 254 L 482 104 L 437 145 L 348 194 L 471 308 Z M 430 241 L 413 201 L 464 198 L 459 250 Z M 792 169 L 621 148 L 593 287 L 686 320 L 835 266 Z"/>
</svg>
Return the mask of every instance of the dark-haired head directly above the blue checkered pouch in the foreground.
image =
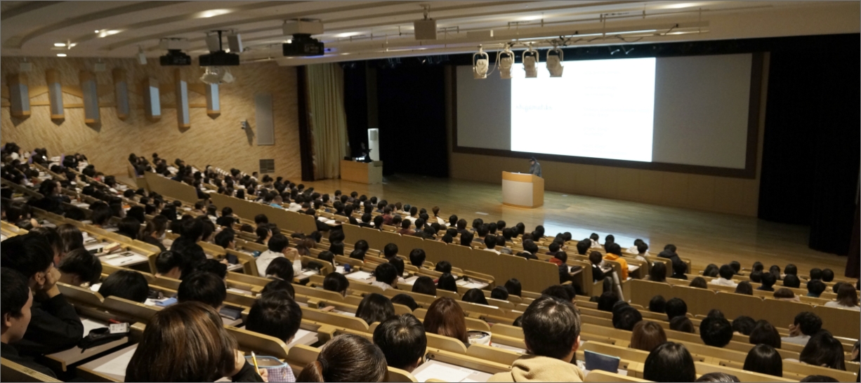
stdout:
<svg viewBox="0 0 861 383">
<path fill-rule="evenodd" d="M 302 323 L 302 310 L 289 293 L 273 291 L 254 301 L 245 330 L 276 337 L 290 343 Z"/>
</svg>

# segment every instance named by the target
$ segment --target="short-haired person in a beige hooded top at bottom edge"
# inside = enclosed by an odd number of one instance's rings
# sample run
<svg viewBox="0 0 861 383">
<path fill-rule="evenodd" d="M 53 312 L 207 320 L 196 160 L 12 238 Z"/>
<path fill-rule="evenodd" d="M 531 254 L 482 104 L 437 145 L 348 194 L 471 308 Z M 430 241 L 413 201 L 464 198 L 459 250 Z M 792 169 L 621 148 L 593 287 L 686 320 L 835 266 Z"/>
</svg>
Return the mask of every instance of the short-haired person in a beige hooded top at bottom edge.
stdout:
<svg viewBox="0 0 861 383">
<path fill-rule="evenodd" d="M 571 302 L 542 296 L 530 303 L 521 322 L 529 353 L 517 358 L 511 371 L 495 374 L 487 381 L 585 379 L 583 371 L 572 363 L 579 348 L 580 318 Z"/>
</svg>

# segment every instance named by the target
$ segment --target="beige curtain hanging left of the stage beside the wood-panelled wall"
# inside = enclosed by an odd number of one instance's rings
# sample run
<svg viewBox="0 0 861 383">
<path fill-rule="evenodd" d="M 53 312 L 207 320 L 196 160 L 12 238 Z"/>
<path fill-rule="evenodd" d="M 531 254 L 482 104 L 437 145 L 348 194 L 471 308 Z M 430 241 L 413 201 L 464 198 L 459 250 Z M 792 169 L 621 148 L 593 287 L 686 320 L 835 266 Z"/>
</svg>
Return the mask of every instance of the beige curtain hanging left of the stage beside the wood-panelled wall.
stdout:
<svg viewBox="0 0 861 383">
<path fill-rule="evenodd" d="M 307 80 L 314 178 L 338 178 L 347 152 L 344 71 L 338 64 L 308 65 Z"/>
</svg>

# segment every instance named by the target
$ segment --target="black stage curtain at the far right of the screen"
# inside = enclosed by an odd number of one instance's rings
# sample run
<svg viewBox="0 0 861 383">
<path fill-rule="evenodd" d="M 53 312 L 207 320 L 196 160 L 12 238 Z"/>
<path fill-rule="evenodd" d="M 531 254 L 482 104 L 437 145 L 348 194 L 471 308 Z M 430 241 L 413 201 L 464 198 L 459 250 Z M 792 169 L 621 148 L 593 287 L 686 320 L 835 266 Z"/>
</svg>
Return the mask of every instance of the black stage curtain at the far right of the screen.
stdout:
<svg viewBox="0 0 861 383">
<path fill-rule="evenodd" d="M 809 246 L 846 255 L 861 156 L 858 34 L 771 52 L 759 218 L 810 225 Z"/>
</svg>

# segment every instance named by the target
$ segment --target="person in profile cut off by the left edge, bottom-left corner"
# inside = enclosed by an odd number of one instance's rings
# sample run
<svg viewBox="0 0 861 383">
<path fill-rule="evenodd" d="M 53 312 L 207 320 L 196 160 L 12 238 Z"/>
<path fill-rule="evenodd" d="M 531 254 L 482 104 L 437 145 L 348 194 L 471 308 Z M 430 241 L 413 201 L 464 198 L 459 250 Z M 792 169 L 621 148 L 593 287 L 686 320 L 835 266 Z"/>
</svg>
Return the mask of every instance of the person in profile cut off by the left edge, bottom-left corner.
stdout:
<svg viewBox="0 0 861 383">
<path fill-rule="evenodd" d="M 0 293 L 3 323 L 0 326 L 0 355 L 26 368 L 56 378 L 50 368 L 46 368 L 30 358 L 18 355 L 18 350 L 10 343 L 20 341 L 27 331 L 33 307 L 33 293 L 30 292 L 27 277 L 14 269 L 0 269 Z"/>
</svg>

